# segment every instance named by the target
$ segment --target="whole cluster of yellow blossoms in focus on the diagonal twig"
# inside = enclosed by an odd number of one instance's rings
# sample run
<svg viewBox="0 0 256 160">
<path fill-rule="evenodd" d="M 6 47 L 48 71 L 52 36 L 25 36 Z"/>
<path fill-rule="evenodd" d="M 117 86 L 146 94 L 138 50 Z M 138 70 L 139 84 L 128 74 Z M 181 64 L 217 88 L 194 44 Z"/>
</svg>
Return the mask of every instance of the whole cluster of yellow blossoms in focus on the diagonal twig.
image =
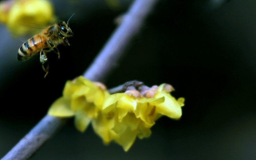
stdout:
<svg viewBox="0 0 256 160">
<path fill-rule="evenodd" d="M 141 139 L 151 135 L 150 128 L 159 117 L 181 117 L 185 99 L 172 97 L 169 86 L 153 86 L 144 93 L 148 98 L 136 90 L 110 95 L 80 76 L 66 83 L 63 96 L 52 104 L 48 114 L 75 116 L 75 125 L 80 131 L 91 122 L 105 144 L 115 141 L 127 151 L 137 136 Z"/>
</svg>

